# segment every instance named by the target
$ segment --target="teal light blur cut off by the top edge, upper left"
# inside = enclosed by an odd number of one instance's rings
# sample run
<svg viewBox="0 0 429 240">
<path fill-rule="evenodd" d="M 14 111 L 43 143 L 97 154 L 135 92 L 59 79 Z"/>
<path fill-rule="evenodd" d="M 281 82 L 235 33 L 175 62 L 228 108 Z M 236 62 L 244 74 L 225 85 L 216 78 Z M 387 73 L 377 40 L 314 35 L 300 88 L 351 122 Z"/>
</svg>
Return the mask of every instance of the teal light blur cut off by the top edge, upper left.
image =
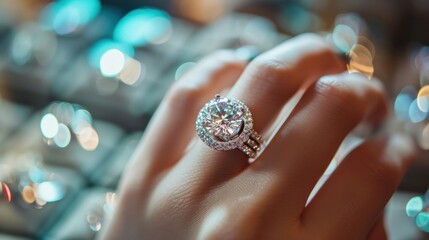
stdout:
<svg viewBox="0 0 429 240">
<path fill-rule="evenodd" d="M 45 7 L 41 22 L 47 29 L 66 35 L 91 22 L 100 10 L 99 0 L 58 0 Z"/>
</svg>

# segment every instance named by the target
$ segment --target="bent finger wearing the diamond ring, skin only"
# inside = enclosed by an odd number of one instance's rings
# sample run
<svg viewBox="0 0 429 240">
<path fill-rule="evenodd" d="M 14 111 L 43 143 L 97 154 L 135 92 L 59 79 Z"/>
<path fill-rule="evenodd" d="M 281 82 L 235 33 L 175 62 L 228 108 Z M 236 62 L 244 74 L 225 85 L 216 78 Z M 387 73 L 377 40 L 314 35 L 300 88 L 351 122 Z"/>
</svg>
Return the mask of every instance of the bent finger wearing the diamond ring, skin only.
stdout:
<svg viewBox="0 0 429 240">
<path fill-rule="evenodd" d="M 228 97 L 249 107 L 254 129 L 263 133 L 305 83 L 344 68 L 342 59 L 323 38 L 305 34 L 257 57 Z M 192 174 L 192 179 L 198 179 L 198 186 L 205 189 L 235 176 L 247 165 L 247 156 L 239 150 L 216 151 L 198 141 L 175 171 L 181 176 Z"/>
</svg>

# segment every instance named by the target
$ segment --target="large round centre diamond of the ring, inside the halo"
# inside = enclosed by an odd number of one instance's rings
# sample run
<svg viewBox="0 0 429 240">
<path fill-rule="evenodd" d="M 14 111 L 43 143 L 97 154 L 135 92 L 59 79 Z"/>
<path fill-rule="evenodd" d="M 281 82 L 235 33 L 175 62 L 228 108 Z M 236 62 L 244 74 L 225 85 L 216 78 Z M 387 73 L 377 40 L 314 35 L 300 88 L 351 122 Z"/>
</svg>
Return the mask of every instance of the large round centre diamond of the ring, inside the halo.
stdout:
<svg viewBox="0 0 429 240">
<path fill-rule="evenodd" d="M 202 126 L 223 141 L 234 139 L 242 130 L 243 109 L 224 97 L 217 97 L 203 112 Z"/>
</svg>

